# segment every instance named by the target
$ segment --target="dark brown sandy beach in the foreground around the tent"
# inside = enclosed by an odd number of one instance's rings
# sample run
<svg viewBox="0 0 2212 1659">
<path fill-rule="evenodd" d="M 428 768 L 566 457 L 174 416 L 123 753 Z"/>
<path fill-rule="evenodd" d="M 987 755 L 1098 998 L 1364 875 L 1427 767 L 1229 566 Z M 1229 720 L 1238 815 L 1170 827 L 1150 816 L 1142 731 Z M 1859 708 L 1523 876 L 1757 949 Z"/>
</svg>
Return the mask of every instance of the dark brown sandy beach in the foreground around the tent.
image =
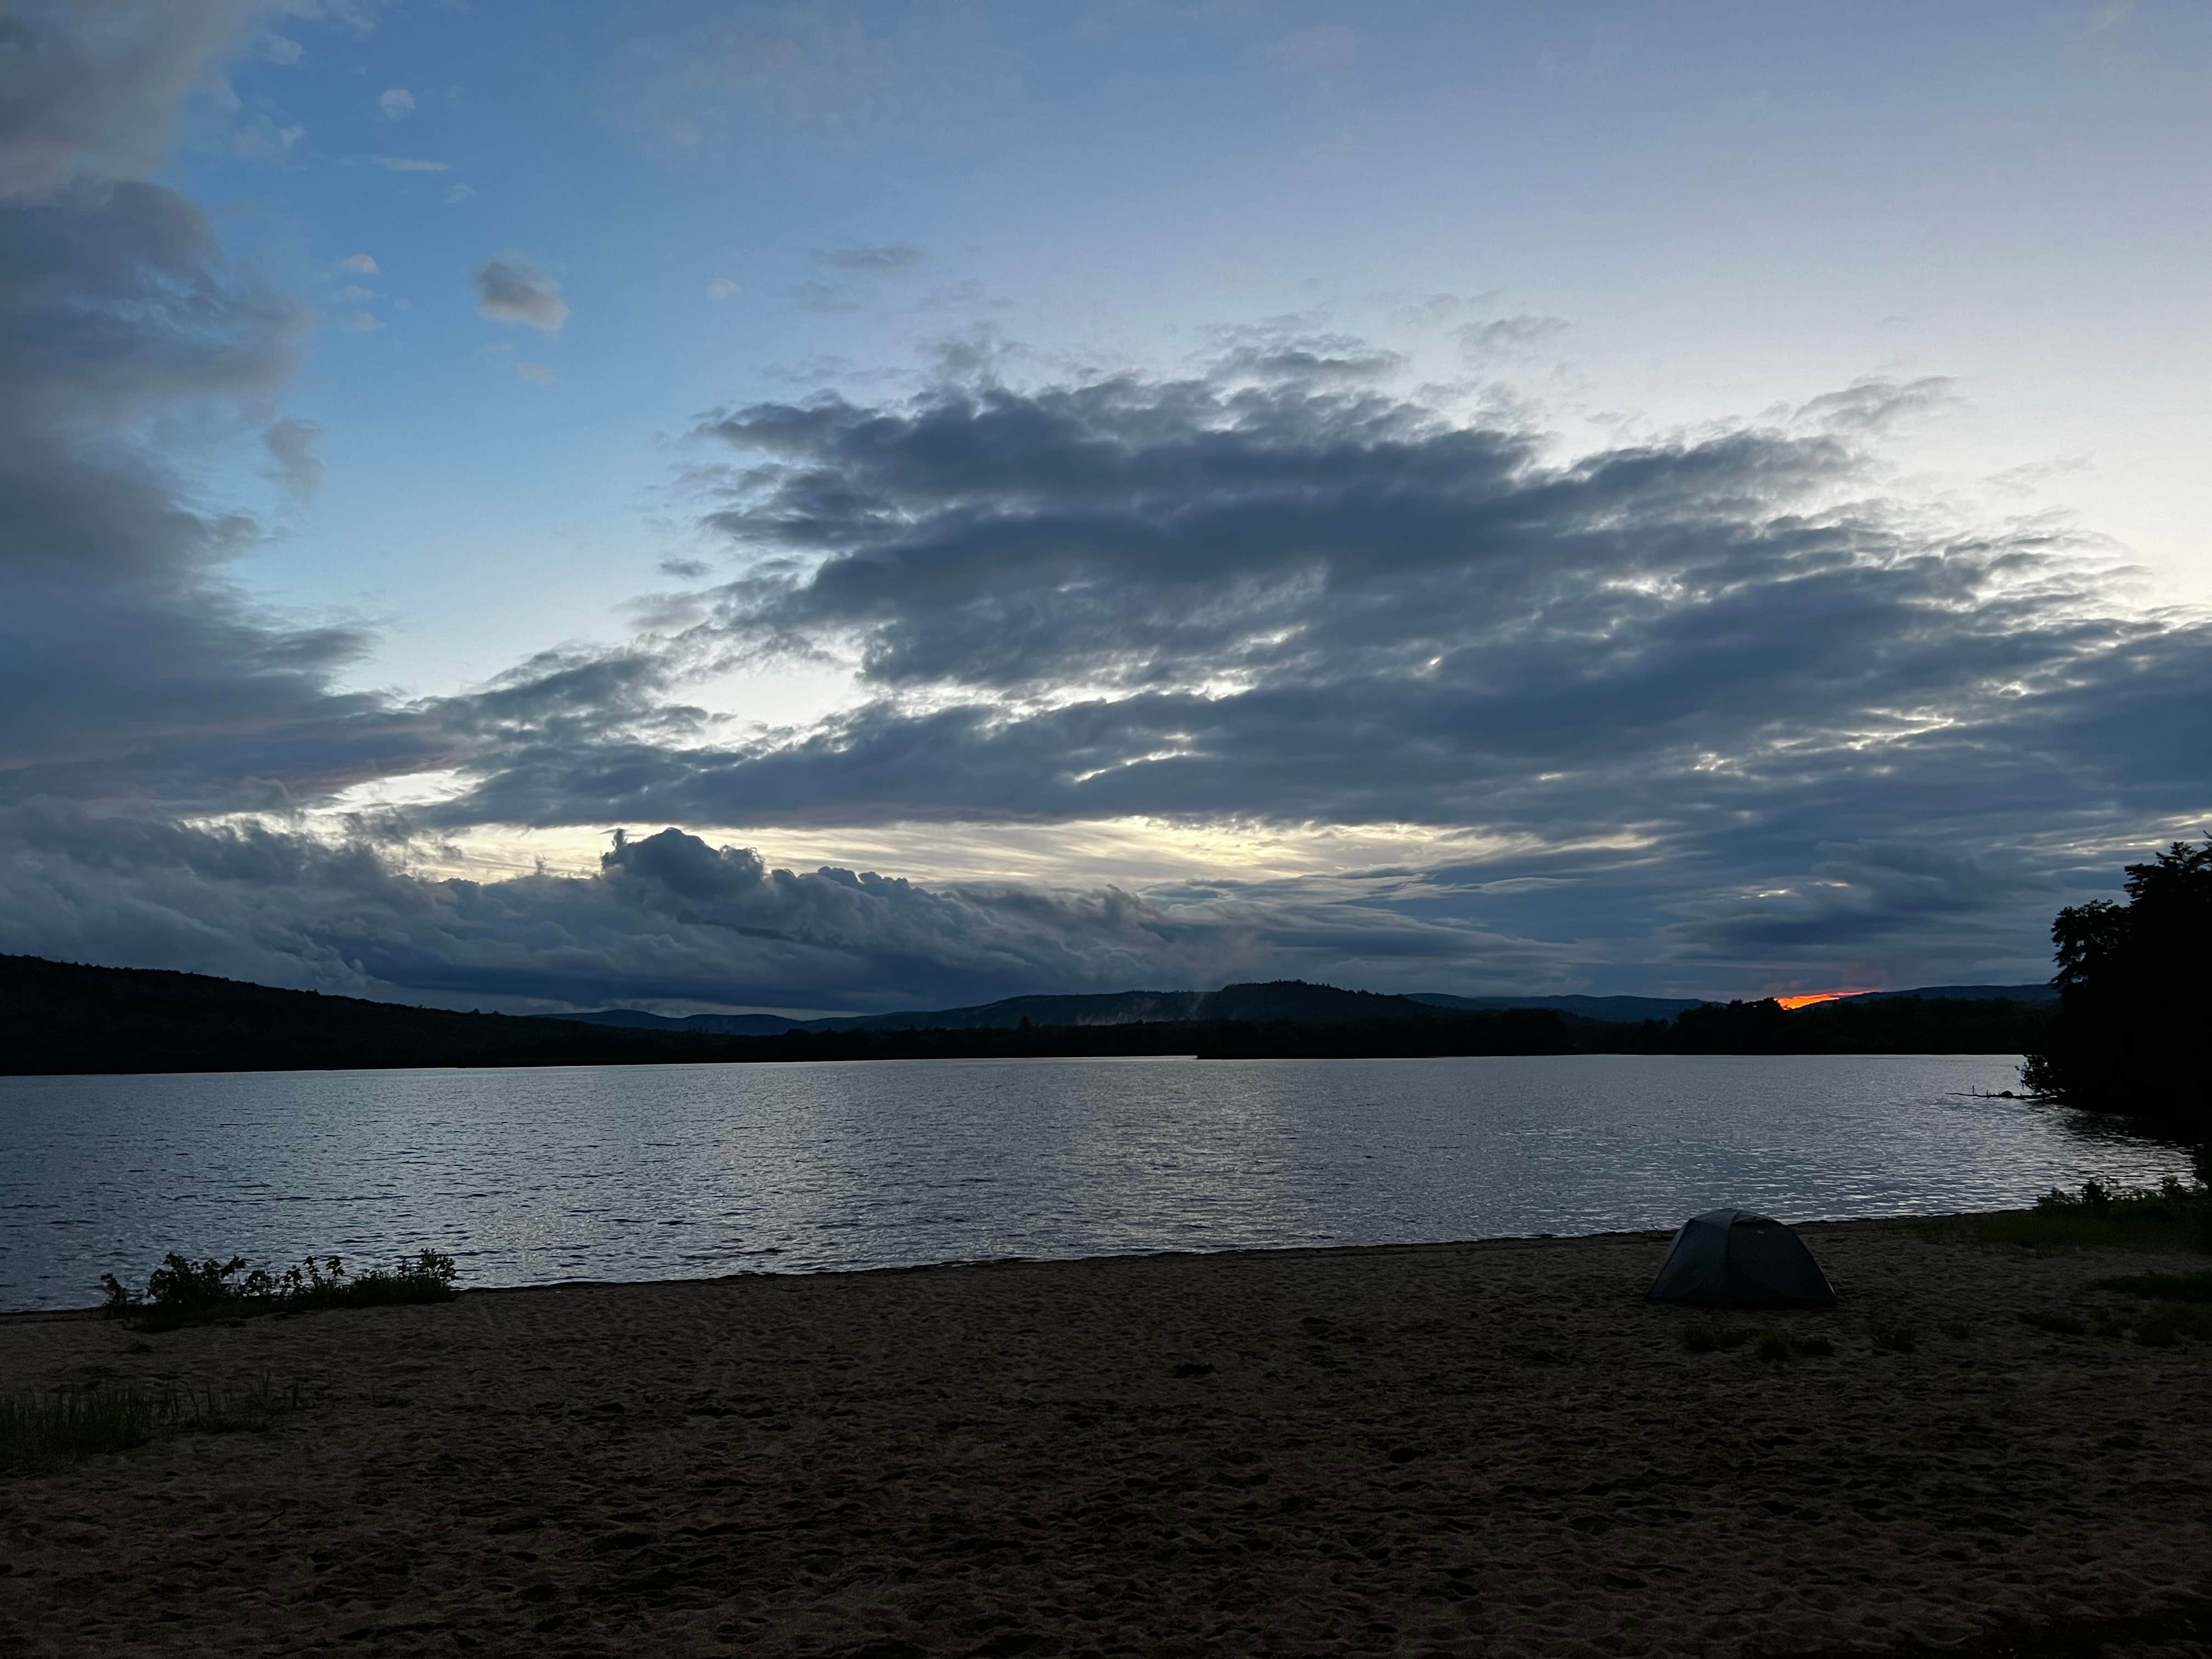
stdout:
<svg viewBox="0 0 2212 1659">
<path fill-rule="evenodd" d="M 2205 1347 L 2017 1318 L 2159 1261 L 1803 1232 L 1792 1365 L 1655 1234 L 9 1318 L 307 1405 L 0 1480 L 0 1652 L 2212 1652 Z"/>
</svg>

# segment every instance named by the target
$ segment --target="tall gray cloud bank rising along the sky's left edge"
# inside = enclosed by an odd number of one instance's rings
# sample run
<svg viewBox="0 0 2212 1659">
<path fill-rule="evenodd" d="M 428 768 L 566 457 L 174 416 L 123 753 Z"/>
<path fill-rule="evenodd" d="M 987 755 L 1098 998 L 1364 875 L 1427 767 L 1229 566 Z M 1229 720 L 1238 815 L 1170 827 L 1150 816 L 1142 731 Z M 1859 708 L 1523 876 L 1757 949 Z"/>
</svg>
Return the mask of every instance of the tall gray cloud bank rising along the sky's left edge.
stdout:
<svg viewBox="0 0 2212 1659">
<path fill-rule="evenodd" d="M 144 434 L 263 436 L 307 312 L 239 270 L 142 166 L 250 7 L 38 7 L 0 38 L 0 801 L 288 805 L 438 752 L 332 695 L 363 639 L 257 615 L 259 531 Z"/>
</svg>

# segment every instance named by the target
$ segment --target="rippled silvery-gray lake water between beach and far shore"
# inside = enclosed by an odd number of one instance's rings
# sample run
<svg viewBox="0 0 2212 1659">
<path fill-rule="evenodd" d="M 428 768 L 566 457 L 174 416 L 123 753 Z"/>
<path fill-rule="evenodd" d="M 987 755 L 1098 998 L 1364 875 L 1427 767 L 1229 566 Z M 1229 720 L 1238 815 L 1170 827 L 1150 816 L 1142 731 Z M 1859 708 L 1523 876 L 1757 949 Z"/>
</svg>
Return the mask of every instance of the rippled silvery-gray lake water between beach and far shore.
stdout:
<svg viewBox="0 0 2212 1659">
<path fill-rule="evenodd" d="M 2008 1055 L 978 1060 L 0 1079 L 0 1307 L 161 1252 L 467 1285 L 2026 1203 L 2188 1155 Z"/>
</svg>

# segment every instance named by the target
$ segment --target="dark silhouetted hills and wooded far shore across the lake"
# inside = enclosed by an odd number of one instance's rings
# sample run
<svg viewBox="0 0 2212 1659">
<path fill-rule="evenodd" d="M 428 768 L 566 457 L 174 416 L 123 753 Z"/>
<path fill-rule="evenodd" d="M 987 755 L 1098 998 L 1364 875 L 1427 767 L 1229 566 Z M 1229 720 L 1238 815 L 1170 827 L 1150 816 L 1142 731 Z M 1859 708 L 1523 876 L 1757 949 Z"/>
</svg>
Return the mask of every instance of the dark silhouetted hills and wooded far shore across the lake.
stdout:
<svg viewBox="0 0 2212 1659">
<path fill-rule="evenodd" d="M 1400 998 L 1276 980 L 1221 991 L 1006 998 L 973 1009 L 860 1020 L 661 1020 L 635 1009 L 557 1020 L 418 1009 L 168 969 L 0 956 L 0 1075 L 1082 1055 L 2033 1053 L 2055 1006 L 2044 987 L 1955 991 L 2022 995 L 1947 1000 L 1938 991 L 1911 1000 L 1885 993 L 1798 1013 L 1767 1000 L 1705 1002 L 1683 1006 L 1672 1020 L 1604 1020 L 1593 1018 L 1593 1009 L 1637 1015 L 1652 1004 L 1670 1006 L 1670 1000 L 1531 998 L 1517 1004 L 1515 998 Z"/>
</svg>

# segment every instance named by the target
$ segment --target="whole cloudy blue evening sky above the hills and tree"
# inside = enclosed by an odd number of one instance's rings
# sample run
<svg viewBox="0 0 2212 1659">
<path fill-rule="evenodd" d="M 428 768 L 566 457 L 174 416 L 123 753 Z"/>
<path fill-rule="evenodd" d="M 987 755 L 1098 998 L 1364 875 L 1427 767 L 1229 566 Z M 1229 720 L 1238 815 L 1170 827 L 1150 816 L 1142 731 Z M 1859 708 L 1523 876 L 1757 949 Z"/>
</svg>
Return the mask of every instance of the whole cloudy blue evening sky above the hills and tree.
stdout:
<svg viewBox="0 0 2212 1659">
<path fill-rule="evenodd" d="M 0 949 L 2048 975 L 2212 825 L 2197 4 L 0 0 Z"/>
</svg>

